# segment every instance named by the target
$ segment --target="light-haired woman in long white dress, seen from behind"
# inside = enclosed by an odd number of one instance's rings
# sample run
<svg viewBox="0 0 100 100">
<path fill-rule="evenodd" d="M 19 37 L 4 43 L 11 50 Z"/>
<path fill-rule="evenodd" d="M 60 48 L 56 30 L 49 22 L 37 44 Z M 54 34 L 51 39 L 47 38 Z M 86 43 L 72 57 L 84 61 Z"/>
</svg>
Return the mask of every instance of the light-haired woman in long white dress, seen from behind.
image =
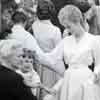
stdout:
<svg viewBox="0 0 100 100">
<path fill-rule="evenodd" d="M 54 89 L 61 92 L 60 100 L 100 100 L 99 87 L 95 83 L 100 69 L 99 40 L 84 30 L 82 13 L 76 6 L 65 6 L 60 10 L 58 18 L 72 35 L 65 37 L 51 53 L 40 55 L 40 62 L 52 64 L 53 67 L 59 60 L 64 59 L 69 65 L 64 78 L 58 86 L 54 86 Z M 92 62 L 95 63 L 94 72 L 88 68 Z M 56 67 L 58 66 L 53 68 Z M 85 93 L 84 84 L 88 79 L 92 89 Z M 48 96 L 45 99 L 49 100 Z"/>
</svg>

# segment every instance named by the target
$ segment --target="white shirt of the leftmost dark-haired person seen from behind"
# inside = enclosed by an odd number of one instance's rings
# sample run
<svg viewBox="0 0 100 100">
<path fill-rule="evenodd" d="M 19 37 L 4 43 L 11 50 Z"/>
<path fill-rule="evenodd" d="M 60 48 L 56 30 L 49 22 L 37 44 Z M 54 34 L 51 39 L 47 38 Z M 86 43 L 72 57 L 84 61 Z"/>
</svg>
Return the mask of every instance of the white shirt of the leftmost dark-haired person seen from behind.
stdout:
<svg viewBox="0 0 100 100">
<path fill-rule="evenodd" d="M 23 46 L 30 50 L 36 51 L 39 49 L 35 38 L 21 25 L 14 25 L 12 28 L 12 34 L 10 34 L 8 38 L 21 41 L 23 43 Z"/>
</svg>

